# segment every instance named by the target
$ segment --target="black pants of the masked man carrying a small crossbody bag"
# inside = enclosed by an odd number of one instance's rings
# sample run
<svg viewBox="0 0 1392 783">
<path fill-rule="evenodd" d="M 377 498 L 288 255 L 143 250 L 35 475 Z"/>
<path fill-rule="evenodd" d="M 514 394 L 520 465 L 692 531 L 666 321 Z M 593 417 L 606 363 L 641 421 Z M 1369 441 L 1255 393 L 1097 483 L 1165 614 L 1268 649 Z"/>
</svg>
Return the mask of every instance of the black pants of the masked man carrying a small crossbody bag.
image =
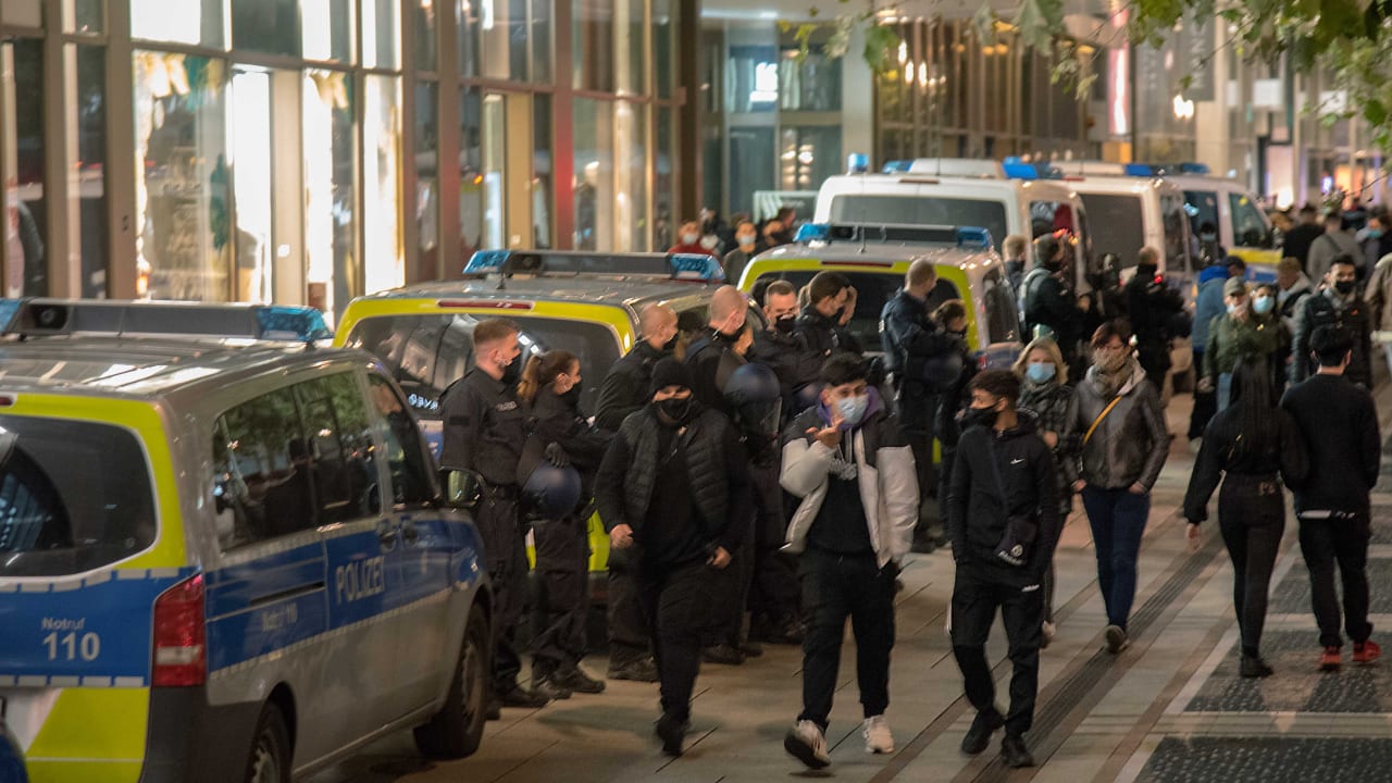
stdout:
<svg viewBox="0 0 1392 783">
<path fill-rule="evenodd" d="M 1040 621 L 1044 591 L 1025 592 L 1027 578 L 1009 566 L 958 563 L 952 587 L 952 655 L 966 683 L 966 698 L 979 712 L 995 709 L 995 677 L 986 659 L 986 639 L 999 607 L 1009 641 L 1011 706 L 1006 734 L 1022 736 L 1034 723 L 1040 684 Z"/>
</svg>

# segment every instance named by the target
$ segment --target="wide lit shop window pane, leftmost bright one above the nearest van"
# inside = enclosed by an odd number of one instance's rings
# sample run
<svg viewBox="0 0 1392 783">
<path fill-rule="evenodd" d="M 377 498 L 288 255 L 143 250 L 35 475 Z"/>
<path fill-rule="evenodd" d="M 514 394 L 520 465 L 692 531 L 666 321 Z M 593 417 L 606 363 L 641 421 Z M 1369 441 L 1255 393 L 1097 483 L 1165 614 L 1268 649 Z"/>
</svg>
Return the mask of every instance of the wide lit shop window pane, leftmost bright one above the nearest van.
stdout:
<svg viewBox="0 0 1392 783">
<path fill-rule="evenodd" d="M 136 52 L 134 68 L 136 263 L 146 280 L 139 293 L 226 301 L 227 64 Z"/>
</svg>

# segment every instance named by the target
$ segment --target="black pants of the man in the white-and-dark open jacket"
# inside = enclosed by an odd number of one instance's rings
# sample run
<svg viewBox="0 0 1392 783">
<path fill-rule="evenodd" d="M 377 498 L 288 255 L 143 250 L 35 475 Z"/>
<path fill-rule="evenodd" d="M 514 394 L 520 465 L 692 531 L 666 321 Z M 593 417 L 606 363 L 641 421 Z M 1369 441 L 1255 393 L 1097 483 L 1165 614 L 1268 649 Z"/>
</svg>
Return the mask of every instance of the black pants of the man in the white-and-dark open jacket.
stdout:
<svg viewBox="0 0 1392 783">
<path fill-rule="evenodd" d="M 889 651 L 894 649 L 895 570 L 880 568 L 874 555 L 835 555 L 809 548 L 802 553 L 802 715 L 827 730 L 841 669 L 846 617 L 856 639 L 856 683 L 866 718 L 889 706 Z"/>
</svg>

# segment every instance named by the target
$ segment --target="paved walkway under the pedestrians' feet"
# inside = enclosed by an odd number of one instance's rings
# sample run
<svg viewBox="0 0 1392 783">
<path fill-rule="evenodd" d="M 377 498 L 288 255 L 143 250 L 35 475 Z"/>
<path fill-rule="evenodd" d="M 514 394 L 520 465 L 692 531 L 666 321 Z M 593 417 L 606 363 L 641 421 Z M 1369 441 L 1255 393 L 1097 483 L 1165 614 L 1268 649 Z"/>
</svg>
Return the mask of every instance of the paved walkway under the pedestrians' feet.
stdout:
<svg viewBox="0 0 1392 783">
<path fill-rule="evenodd" d="M 1168 411 L 1185 432 L 1189 397 Z M 1386 422 L 1392 390 L 1379 387 Z M 1384 432 L 1386 435 L 1386 431 Z M 576 695 L 539 711 L 504 711 L 490 723 L 477 755 L 458 762 L 420 761 L 408 733 L 366 748 L 313 777 L 315 783 L 433 783 L 610 780 L 767 782 L 834 776 L 848 782 L 1037 780 L 1051 783 L 1175 780 L 1392 780 L 1392 665 L 1317 670 L 1318 644 L 1308 610 L 1308 581 L 1295 522 L 1276 564 L 1264 642 L 1276 674 L 1242 680 L 1236 672 L 1232 567 L 1204 525 L 1203 546 L 1185 546 L 1179 503 L 1192 456 L 1176 439 L 1154 492 L 1140 559 L 1133 646 L 1102 651 L 1105 626 L 1091 536 L 1080 504 L 1055 557 L 1059 628 L 1041 662 L 1041 694 L 1029 741 L 1040 766 L 1006 770 L 998 737 L 977 758 L 958 750 L 970 723 L 962 680 L 944 631 L 952 589 L 947 552 L 913 556 L 898 598 L 891 708 L 896 752 L 867 755 L 859 734 L 855 652 L 848 645 L 828 741 L 832 766 L 802 768 L 782 750 L 800 706 L 800 651 L 766 646 L 743 666 L 703 666 L 693 733 L 679 759 L 660 754 L 651 736 L 656 685 L 610 683 L 597 697 Z M 1385 458 L 1392 474 L 1392 457 Z M 1373 623 L 1392 628 L 1392 481 L 1374 495 L 1370 560 Z M 1378 634 L 1381 635 L 1381 634 Z M 1392 641 L 1392 637 L 1384 638 Z M 1004 706 L 1009 663 L 997 624 L 988 646 Z M 1392 646 L 1389 646 L 1392 653 Z M 603 660 L 589 663 L 603 672 Z"/>
</svg>

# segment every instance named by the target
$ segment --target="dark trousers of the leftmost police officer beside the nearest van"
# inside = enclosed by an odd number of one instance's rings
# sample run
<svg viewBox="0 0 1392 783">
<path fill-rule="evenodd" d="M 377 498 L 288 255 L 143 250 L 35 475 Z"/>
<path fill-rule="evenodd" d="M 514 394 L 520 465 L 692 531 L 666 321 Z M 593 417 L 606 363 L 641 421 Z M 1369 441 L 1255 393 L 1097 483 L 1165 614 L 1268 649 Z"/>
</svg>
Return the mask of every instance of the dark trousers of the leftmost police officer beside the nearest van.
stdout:
<svg viewBox="0 0 1392 783">
<path fill-rule="evenodd" d="M 486 488 L 475 521 L 493 578 L 493 691 L 503 695 L 516 687 L 522 672 L 516 637 L 529 568 L 516 488 Z"/>
</svg>

